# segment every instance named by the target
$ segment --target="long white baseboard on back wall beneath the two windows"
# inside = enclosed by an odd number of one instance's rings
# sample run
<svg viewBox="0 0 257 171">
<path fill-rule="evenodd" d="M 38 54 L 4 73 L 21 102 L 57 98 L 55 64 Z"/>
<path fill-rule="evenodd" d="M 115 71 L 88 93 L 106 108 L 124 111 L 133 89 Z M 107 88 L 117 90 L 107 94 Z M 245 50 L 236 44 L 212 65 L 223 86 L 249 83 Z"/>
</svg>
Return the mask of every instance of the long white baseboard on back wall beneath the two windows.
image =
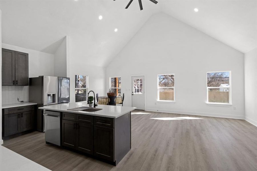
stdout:
<svg viewBox="0 0 257 171">
<path fill-rule="evenodd" d="M 221 117 L 221 118 L 230 118 L 230 119 L 245 119 L 245 117 L 243 115 L 227 115 L 227 114 L 219 114 L 219 113 L 204 113 L 204 112 L 192 112 L 192 111 L 174 111 L 174 110 L 152 109 L 152 108 L 147 108 L 146 111 L 176 113 L 176 114 L 184 114 L 184 115 L 198 115 L 198 116 L 209 116 L 209 117 Z"/>
</svg>

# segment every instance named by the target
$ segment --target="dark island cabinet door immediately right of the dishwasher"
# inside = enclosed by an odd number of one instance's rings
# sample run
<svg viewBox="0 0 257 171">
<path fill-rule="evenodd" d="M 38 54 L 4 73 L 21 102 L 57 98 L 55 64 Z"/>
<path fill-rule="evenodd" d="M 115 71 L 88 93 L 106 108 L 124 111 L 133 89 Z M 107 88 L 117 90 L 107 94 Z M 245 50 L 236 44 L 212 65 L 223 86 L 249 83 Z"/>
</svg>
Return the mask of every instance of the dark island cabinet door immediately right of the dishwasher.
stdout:
<svg viewBox="0 0 257 171">
<path fill-rule="evenodd" d="M 76 122 L 62 120 L 62 145 L 76 149 Z"/>
</svg>

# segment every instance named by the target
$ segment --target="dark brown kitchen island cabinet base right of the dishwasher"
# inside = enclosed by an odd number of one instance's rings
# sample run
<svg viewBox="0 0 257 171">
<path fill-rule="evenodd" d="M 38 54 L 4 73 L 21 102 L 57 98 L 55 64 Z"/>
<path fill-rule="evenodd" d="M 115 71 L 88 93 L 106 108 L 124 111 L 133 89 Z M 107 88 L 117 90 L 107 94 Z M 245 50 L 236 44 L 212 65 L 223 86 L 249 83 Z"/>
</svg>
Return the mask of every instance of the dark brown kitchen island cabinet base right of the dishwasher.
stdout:
<svg viewBox="0 0 257 171">
<path fill-rule="evenodd" d="M 117 165 L 131 148 L 130 112 L 108 118 L 62 112 L 61 145 Z"/>
</svg>

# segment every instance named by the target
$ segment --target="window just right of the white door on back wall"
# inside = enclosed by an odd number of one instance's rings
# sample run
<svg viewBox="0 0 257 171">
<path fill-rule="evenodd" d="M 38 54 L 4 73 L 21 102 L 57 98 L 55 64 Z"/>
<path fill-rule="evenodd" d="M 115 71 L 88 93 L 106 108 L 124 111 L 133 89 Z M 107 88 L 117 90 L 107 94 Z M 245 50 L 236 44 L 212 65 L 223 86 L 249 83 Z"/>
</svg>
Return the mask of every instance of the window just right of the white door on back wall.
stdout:
<svg viewBox="0 0 257 171">
<path fill-rule="evenodd" d="M 158 75 L 158 101 L 174 101 L 174 74 Z"/>
</svg>

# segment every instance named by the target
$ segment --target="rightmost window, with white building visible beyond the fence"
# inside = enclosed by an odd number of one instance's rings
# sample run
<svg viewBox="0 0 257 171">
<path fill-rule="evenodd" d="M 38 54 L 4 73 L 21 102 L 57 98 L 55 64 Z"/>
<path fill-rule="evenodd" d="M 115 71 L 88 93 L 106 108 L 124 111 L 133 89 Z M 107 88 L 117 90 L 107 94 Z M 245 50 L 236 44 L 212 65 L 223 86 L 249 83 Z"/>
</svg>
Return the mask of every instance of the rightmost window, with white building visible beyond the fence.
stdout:
<svg viewBox="0 0 257 171">
<path fill-rule="evenodd" d="M 230 71 L 207 72 L 207 102 L 231 103 Z"/>
</svg>

